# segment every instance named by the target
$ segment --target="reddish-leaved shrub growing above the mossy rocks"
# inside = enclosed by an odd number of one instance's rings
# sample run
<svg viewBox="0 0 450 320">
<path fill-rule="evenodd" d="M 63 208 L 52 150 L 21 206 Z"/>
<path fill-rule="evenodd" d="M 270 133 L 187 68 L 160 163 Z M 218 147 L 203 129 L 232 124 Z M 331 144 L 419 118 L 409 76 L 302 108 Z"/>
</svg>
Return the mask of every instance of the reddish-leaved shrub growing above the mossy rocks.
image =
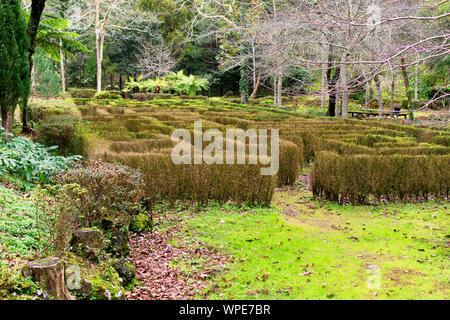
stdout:
<svg viewBox="0 0 450 320">
<path fill-rule="evenodd" d="M 139 170 L 101 161 L 62 172 L 55 177 L 55 182 L 78 184 L 86 189 L 81 195 L 80 218 L 88 228 L 105 217 L 128 226 L 129 213 L 139 206 L 143 190 Z"/>
</svg>

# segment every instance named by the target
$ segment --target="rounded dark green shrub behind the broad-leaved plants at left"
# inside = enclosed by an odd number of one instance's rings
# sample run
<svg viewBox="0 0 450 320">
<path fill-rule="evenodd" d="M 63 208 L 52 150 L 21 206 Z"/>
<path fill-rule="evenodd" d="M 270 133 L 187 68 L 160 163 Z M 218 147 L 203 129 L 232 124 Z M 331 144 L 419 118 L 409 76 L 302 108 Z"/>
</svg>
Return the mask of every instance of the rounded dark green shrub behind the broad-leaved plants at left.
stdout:
<svg viewBox="0 0 450 320">
<path fill-rule="evenodd" d="M 52 117 L 42 122 L 37 129 L 37 140 L 46 146 L 58 146 L 66 155 L 86 155 L 87 141 L 76 118 Z"/>
</svg>

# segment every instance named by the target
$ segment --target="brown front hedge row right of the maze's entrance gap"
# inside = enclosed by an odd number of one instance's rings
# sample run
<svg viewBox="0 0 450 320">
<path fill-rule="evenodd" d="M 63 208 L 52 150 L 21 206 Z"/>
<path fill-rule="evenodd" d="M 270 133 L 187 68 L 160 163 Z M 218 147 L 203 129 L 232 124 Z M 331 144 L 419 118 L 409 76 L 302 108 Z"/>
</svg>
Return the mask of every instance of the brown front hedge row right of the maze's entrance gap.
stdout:
<svg viewBox="0 0 450 320">
<path fill-rule="evenodd" d="M 343 203 L 377 199 L 414 201 L 448 197 L 450 155 L 373 156 L 319 152 L 312 171 L 315 196 Z"/>
</svg>

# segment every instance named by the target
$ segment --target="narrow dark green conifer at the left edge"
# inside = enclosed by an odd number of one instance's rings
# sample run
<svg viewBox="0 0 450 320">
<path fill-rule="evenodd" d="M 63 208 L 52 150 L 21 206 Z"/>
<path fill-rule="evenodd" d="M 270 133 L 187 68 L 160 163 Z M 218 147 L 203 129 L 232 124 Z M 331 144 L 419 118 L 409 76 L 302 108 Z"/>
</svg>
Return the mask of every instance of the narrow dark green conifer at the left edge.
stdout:
<svg viewBox="0 0 450 320">
<path fill-rule="evenodd" d="M 2 126 L 12 132 L 15 108 L 28 98 L 29 38 L 20 0 L 0 0 L 0 108 Z"/>
</svg>

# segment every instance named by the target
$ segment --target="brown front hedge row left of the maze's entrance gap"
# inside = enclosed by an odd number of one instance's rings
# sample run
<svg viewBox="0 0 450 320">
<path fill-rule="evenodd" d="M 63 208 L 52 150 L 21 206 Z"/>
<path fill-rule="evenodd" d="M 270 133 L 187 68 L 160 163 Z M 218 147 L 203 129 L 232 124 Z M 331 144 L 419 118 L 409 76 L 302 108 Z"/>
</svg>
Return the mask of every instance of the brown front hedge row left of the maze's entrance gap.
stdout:
<svg viewBox="0 0 450 320">
<path fill-rule="evenodd" d="M 175 165 L 170 154 L 115 154 L 104 160 L 140 169 L 147 196 L 170 201 L 268 205 L 277 185 L 277 176 L 262 176 L 260 165 Z"/>
</svg>

